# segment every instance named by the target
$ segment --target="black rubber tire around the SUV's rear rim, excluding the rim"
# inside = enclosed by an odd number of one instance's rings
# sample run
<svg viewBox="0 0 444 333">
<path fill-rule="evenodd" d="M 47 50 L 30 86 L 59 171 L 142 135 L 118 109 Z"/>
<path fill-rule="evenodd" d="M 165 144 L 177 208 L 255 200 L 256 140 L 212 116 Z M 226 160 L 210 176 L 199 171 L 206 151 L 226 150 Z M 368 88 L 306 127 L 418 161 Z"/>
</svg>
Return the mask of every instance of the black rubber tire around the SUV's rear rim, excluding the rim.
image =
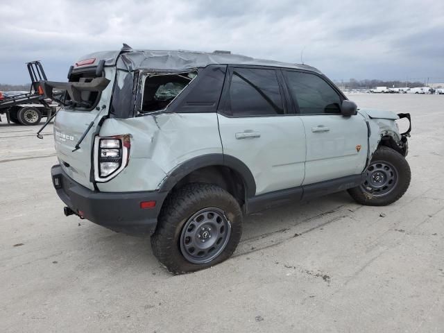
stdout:
<svg viewBox="0 0 444 333">
<path fill-rule="evenodd" d="M 223 250 L 221 248 L 221 253 L 209 262 L 190 262 L 186 259 L 185 250 L 181 248 L 182 228 L 191 221 L 192 216 L 209 207 L 223 212 L 225 223 L 230 225 L 229 237 Z M 159 215 L 157 229 L 151 236 L 151 247 L 155 257 L 168 271 L 181 274 L 214 266 L 228 259 L 237 248 L 241 234 L 242 211 L 237 200 L 216 185 L 192 183 L 167 197 Z"/>
</svg>

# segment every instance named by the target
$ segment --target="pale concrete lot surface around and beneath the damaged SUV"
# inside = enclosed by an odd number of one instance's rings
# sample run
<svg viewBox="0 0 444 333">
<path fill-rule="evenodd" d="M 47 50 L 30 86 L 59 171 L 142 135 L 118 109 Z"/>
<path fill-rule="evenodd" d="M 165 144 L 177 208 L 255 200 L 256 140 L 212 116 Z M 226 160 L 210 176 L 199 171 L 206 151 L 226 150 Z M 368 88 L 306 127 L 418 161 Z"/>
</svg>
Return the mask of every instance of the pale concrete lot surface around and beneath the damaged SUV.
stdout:
<svg viewBox="0 0 444 333">
<path fill-rule="evenodd" d="M 231 259 L 180 276 L 148 240 L 65 217 L 51 135 L 0 123 L 0 332 L 444 332 L 444 96 L 350 99 L 411 112 L 407 194 L 249 216 Z"/>
</svg>

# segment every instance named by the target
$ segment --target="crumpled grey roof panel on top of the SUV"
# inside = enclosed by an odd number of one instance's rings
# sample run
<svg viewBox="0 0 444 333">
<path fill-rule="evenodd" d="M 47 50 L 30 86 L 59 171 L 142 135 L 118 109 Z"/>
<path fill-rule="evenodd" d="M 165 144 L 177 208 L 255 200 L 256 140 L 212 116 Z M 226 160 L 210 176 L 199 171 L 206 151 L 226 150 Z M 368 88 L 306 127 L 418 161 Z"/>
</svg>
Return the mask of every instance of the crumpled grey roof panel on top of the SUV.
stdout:
<svg viewBox="0 0 444 333">
<path fill-rule="evenodd" d="M 121 54 L 120 57 L 119 54 Z M 100 51 L 89 53 L 88 55 L 81 57 L 79 60 L 90 58 L 96 59 L 92 66 L 97 65 L 100 60 L 105 60 L 105 66 L 112 66 L 116 64 L 117 61 L 117 68 L 128 71 L 134 71 L 136 69 L 151 69 L 153 71 L 187 71 L 189 69 L 207 67 L 207 65 L 220 64 L 307 69 L 321 74 L 321 71 L 308 65 L 255 59 L 230 53 L 206 53 L 181 50 L 135 50 L 124 53 L 120 53 L 120 51 Z"/>
</svg>

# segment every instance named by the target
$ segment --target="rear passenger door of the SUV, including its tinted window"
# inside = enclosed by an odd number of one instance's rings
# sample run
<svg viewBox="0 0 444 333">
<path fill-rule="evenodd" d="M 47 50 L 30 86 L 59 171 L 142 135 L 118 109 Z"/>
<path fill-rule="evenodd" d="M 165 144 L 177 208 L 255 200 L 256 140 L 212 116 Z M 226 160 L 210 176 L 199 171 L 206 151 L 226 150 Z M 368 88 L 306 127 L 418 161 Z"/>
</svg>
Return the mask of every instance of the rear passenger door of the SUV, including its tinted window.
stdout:
<svg viewBox="0 0 444 333">
<path fill-rule="evenodd" d="M 256 194 L 302 184 L 305 133 L 289 114 L 279 70 L 229 67 L 218 120 L 224 155 L 244 162 L 253 173 Z"/>
</svg>

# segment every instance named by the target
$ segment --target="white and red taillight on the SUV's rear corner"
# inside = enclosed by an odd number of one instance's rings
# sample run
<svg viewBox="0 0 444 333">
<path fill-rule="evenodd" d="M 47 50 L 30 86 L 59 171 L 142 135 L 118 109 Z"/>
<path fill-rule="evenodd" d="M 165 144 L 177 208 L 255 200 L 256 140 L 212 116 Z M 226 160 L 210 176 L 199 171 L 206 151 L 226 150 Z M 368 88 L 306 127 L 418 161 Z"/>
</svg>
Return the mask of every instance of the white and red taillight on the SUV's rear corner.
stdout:
<svg viewBox="0 0 444 333">
<path fill-rule="evenodd" d="M 128 165 L 130 147 L 130 135 L 96 137 L 94 142 L 94 178 L 96 182 L 107 182 Z"/>
</svg>

